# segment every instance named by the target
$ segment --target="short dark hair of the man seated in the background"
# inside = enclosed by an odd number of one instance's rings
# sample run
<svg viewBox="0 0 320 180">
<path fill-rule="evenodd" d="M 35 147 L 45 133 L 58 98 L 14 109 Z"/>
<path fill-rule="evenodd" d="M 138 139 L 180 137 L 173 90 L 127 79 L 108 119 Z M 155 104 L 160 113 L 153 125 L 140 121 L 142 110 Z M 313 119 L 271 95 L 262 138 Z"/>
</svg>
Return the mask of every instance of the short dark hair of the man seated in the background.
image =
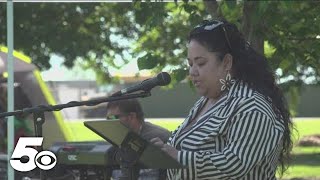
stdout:
<svg viewBox="0 0 320 180">
<path fill-rule="evenodd" d="M 129 114 L 136 113 L 137 118 L 144 122 L 144 113 L 142 107 L 137 99 L 125 99 L 119 101 L 111 101 L 107 104 L 107 111 L 110 108 L 119 108 L 121 113 Z"/>
</svg>

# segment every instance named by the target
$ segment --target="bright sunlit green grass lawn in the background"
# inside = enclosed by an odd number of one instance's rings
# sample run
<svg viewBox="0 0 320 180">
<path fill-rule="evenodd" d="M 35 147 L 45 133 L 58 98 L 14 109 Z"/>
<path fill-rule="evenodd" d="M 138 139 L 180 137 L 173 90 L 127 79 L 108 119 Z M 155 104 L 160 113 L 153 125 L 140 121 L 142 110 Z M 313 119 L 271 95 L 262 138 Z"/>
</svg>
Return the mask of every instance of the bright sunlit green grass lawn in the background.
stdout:
<svg viewBox="0 0 320 180">
<path fill-rule="evenodd" d="M 179 120 L 152 120 L 173 131 L 181 123 Z M 297 129 L 294 132 L 295 143 L 306 135 L 320 134 L 320 119 L 299 119 L 294 121 Z M 87 129 L 82 121 L 66 122 L 66 126 L 73 132 L 74 141 L 102 140 L 98 135 Z M 79 133 L 81 132 L 81 133 Z M 320 147 L 294 146 L 292 164 L 284 178 L 319 177 L 320 178 Z"/>
</svg>

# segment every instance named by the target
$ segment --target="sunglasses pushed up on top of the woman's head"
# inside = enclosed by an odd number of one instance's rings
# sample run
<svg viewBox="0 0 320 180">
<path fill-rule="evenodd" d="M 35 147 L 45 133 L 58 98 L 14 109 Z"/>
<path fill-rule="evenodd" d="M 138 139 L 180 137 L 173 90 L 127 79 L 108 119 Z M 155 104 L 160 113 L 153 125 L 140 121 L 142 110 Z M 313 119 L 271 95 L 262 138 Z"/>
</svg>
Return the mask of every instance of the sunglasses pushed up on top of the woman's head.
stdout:
<svg viewBox="0 0 320 180">
<path fill-rule="evenodd" d="M 194 28 L 193 32 L 194 32 L 194 34 L 196 34 L 196 33 L 201 33 L 201 32 L 204 32 L 204 31 L 212 31 L 215 28 L 220 26 L 222 28 L 223 32 L 224 32 L 224 37 L 225 37 L 225 39 L 227 41 L 229 50 L 231 51 L 232 50 L 231 43 L 229 41 L 228 34 L 227 34 L 227 31 L 226 31 L 226 28 L 225 28 L 224 25 L 225 25 L 225 23 L 222 22 L 222 21 L 218 21 L 218 20 L 208 21 L 208 20 L 205 20 L 201 24 L 197 25 Z"/>
</svg>

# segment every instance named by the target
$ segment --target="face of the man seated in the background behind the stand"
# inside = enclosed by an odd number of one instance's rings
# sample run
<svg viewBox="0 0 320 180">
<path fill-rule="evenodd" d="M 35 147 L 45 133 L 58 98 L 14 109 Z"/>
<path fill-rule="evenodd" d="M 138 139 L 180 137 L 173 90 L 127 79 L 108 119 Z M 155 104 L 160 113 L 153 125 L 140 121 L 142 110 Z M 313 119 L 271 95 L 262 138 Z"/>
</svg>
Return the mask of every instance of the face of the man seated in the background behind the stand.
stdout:
<svg viewBox="0 0 320 180">
<path fill-rule="evenodd" d="M 107 120 L 119 119 L 121 123 L 135 132 L 139 130 L 139 121 L 135 116 L 135 113 L 122 113 L 118 107 L 112 107 L 107 110 Z"/>
</svg>

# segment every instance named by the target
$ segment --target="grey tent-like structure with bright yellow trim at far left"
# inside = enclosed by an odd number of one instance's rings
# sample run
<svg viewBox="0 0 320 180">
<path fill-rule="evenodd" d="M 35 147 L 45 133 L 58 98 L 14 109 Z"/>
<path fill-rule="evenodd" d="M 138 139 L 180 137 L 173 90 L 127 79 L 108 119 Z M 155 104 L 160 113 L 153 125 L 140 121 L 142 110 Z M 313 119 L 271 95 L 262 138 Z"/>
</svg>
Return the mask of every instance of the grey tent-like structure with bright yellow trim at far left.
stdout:
<svg viewBox="0 0 320 180">
<path fill-rule="evenodd" d="M 0 46 L 0 76 L 1 86 L 6 86 L 8 49 Z M 28 56 L 14 51 L 14 82 L 15 82 L 15 110 L 35 107 L 38 105 L 56 105 L 56 101 L 42 80 L 39 70 L 31 63 Z M 19 93 L 22 92 L 22 94 Z M 26 98 L 21 98 L 27 96 Z M 20 98 L 18 98 L 20 97 Z M 29 103 L 26 103 L 26 99 Z M 4 103 L 6 104 L 6 103 Z M 27 106 L 27 107 L 25 107 Z M 28 119 L 31 121 L 32 116 Z M 45 123 L 43 125 L 44 147 L 49 147 L 53 141 L 72 141 L 72 134 L 64 125 L 64 119 L 60 111 L 45 112 Z M 56 127 L 56 128 L 54 128 Z"/>
</svg>

